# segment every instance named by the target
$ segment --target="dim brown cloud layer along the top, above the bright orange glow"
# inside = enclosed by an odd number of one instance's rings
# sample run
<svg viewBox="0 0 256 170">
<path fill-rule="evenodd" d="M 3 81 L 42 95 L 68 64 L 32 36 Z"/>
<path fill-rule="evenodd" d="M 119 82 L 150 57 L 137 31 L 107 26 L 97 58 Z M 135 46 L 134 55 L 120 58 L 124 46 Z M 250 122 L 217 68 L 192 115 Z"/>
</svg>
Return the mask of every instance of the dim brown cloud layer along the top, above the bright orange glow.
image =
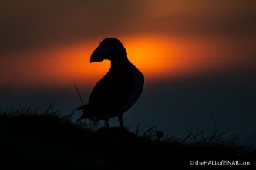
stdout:
<svg viewBox="0 0 256 170">
<path fill-rule="evenodd" d="M 253 1 L 5 0 L 0 52 L 137 34 L 256 35 Z"/>
</svg>

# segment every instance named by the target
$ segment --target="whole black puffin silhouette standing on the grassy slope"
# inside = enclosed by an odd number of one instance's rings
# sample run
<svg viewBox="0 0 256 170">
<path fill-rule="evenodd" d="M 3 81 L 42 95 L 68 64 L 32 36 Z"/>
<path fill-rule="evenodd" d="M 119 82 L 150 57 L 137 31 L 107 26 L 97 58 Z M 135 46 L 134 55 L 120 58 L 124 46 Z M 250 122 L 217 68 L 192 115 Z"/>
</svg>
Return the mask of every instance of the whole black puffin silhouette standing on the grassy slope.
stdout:
<svg viewBox="0 0 256 170">
<path fill-rule="evenodd" d="M 143 74 L 128 60 L 126 49 L 117 38 L 106 38 L 93 51 L 90 62 L 111 61 L 109 72 L 97 82 L 89 96 L 89 102 L 78 110 L 83 115 L 78 119 L 90 119 L 93 122 L 105 121 L 109 127 L 109 118 L 118 117 L 123 125 L 123 113 L 131 108 L 143 91 Z"/>
</svg>

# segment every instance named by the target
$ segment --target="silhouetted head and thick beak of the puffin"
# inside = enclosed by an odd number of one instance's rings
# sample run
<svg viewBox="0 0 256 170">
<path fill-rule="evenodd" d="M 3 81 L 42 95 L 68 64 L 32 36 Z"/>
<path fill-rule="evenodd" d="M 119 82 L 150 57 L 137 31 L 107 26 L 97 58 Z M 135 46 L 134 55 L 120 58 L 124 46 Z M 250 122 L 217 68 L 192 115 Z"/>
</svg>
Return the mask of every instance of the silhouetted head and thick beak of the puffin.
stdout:
<svg viewBox="0 0 256 170">
<path fill-rule="evenodd" d="M 90 62 L 101 62 L 104 59 L 117 61 L 126 58 L 127 53 L 122 42 L 116 38 L 106 38 L 103 39 L 99 46 L 93 51 Z"/>
</svg>

